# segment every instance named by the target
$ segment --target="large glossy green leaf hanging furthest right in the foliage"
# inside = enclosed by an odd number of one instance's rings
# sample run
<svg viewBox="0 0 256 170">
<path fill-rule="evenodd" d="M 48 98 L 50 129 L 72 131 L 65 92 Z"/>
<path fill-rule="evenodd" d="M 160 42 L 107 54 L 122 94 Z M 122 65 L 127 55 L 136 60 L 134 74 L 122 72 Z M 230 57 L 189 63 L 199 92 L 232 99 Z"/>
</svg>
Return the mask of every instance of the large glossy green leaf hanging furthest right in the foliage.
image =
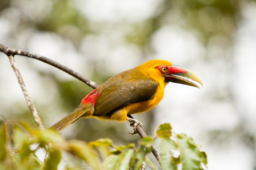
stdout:
<svg viewBox="0 0 256 170">
<path fill-rule="evenodd" d="M 185 134 L 177 135 L 177 145 L 180 150 L 182 170 L 200 170 L 200 150 L 191 137 Z"/>
</svg>

